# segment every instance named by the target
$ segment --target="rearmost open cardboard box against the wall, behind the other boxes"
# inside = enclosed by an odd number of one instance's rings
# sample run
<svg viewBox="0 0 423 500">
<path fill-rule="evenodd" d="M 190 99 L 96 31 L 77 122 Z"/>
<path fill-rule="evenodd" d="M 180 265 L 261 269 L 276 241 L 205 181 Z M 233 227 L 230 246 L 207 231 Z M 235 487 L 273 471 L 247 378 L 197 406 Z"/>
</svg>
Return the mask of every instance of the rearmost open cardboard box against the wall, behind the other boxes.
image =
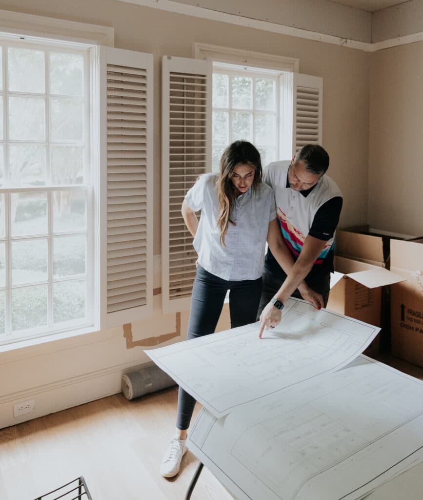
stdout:
<svg viewBox="0 0 423 500">
<path fill-rule="evenodd" d="M 337 229 L 337 254 L 389 269 L 390 242 L 393 239 L 410 239 L 414 236 L 374 229 L 359 225 Z"/>
</svg>

